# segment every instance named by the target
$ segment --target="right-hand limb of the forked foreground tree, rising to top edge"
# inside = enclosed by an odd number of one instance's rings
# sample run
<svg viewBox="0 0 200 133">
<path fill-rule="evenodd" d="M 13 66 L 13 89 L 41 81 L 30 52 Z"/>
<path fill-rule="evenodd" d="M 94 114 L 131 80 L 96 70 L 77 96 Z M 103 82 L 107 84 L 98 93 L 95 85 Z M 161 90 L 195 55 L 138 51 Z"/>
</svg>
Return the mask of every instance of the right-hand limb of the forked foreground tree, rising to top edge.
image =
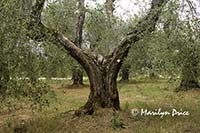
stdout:
<svg viewBox="0 0 200 133">
<path fill-rule="evenodd" d="M 117 47 L 108 56 L 111 58 L 109 61 L 122 61 L 127 56 L 131 44 L 136 43 L 146 34 L 155 30 L 162 8 L 167 2 L 168 0 L 152 0 L 149 13 L 118 43 Z"/>
</svg>

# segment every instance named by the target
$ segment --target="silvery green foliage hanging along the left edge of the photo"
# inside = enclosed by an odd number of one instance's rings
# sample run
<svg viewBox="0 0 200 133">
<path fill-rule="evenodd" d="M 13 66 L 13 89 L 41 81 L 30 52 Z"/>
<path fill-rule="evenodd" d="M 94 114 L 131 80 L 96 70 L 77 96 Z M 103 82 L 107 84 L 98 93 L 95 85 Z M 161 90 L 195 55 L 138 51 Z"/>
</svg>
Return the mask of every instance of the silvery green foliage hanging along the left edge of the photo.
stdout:
<svg viewBox="0 0 200 133">
<path fill-rule="evenodd" d="M 24 1 L 0 2 L 0 101 L 28 98 L 36 105 L 48 105 L 49 86 L 38 81 L 43 58 L 37 42 L 26 36 Z"/>
</svg>

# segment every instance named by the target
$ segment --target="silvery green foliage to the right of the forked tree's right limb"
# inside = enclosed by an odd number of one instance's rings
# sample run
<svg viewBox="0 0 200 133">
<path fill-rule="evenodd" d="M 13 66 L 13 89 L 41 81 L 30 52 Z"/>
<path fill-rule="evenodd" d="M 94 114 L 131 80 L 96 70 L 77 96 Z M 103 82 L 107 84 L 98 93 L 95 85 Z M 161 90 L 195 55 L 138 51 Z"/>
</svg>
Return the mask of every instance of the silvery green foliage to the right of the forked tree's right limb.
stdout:
<svg viewBox="0 0 200 133">
<path fill-rule="evenodd" d="M 198 19 L 182 19 L 182 8 L 177 1 L 169 2 L 160 16 L 157 30 L 131 48 L 126 62 L 131 62 L 132 73 L 153 72 L 176 78 L 182 75 L 185 65 L 189 66 L 190 73 L 193 66 L 199 68 Z"/>
</svg>

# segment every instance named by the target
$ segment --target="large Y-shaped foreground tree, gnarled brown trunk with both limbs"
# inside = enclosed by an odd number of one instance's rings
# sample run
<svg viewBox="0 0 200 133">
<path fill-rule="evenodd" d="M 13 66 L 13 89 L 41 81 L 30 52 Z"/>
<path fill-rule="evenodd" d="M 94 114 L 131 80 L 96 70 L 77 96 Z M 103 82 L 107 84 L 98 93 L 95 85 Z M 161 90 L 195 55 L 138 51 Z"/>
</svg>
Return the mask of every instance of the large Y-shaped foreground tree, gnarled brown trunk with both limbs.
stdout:
<svg viewBox="0 0 200 133">
<path fill-rule="evenodd" d="M 122 62 L 127 56 L 131 44 L 135 44 L 145 34 L 155 30 L 156 22 L 167 0 L 153 0 L 152 7 L 146 17 L 117 44 L 109 55 L 101 59 L 98 58 L 99 55 L 82 50 L 62 33 L 43 25 L 41 13 L 44 2 L 45 0 L 36 0 L 32 8 L 28 36 L 37 41 L 52 41 L 57 46 L 64 47 L 86 71 L 90 82 L 89 98 L 75 114 L 78 116 L 92 114 L 98 107 L 119 110 L 117 75 Z"/>
</svg>

